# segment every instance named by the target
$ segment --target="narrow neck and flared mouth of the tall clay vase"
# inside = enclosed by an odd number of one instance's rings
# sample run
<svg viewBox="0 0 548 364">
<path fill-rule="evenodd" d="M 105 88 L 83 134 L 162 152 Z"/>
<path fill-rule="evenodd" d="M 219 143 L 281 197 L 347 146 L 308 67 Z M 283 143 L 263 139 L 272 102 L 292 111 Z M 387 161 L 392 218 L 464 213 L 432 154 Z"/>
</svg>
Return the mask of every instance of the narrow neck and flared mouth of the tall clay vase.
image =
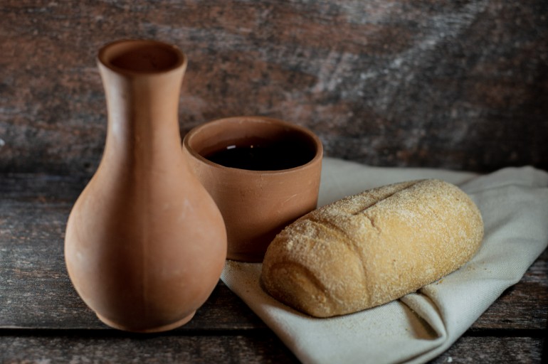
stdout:
<svg viewBox="0 0 548 364">
<path fill-rule="evenodd" d="M 101 48 L 98 68 L 108 114 L 105 157 L 180 148 L 179 94 L 186 63 L 181 50 L 157 41 L 117 41 Z"/>
</svg>

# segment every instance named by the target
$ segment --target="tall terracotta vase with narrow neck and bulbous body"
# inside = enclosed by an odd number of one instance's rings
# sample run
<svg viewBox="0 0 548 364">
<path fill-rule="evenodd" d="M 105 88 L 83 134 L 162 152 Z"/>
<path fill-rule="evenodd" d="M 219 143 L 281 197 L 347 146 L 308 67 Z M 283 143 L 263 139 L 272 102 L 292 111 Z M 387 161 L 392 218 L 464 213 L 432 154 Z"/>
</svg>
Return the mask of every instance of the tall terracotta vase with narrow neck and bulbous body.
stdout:
<svg viewBox="0 0 548 364">
<path fill-rule="evenodd" d="M 98 67 L 107 138 L 68 218 L 68 274 L 107 325 L 166 331 L 204 304 L 226 258 L 221 213 L 181 154 L 186 57 L 156 41 L 117 41 Z"/>
</svg>

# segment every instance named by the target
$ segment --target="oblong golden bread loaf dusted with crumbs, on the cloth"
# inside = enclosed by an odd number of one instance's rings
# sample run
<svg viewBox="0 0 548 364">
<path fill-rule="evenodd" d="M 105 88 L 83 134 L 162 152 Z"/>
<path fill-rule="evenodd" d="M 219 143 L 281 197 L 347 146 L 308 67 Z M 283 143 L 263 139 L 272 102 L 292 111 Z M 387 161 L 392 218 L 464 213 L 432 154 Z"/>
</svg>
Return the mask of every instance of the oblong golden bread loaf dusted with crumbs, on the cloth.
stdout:
<svg viewBox="0 0 548 364">
<path fill-rule="evenodd" d="M 398 299 L 468 262 L 483 220 L 453 184 L 427 179 L 374 188 L 312 211 L 275 237 L 263 289 L 316 317 Z"/>
</svg>

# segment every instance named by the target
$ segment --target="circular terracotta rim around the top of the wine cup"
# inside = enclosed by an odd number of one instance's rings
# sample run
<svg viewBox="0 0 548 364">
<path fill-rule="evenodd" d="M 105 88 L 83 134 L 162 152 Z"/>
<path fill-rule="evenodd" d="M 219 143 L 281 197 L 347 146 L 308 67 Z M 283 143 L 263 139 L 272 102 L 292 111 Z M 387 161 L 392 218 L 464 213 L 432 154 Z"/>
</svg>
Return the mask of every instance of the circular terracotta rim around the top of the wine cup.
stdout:
<svg viewBox="0 0 548 364">
<path fill-rule="evenodd" d="M 256 171 L 252 169 L 243 169 L 243 168 L 234 168 L 234 167 L 228 167 L 223 166 L 221 164 L 216 164 L 213 161 L 210 161 L 209 159 L 206 159 L 204 156 L 198 153 L 196 149 L 192 148 L 190 143 L 191 139 L 202 132 L 206 128 L 215 127 L 218 124 L 225 124 L 225 123 L 233 123 L 233 122 L 266 122 L 269 124 L 276 124 L 280 125 L 282 127 L 286 127 L 288 129 L 291 129 L 296 132 L 300 132 L 302 134 L 305 134 L 306 137 L 308 137 L 315 146 L 315 155 L 310 159 L 310 161 L 307 161 L 305 164 L 301 164 L 300 166 L 295 166 L 293 168 L 285 168 L 285 169 L 275 169 L 275 170 L 264 170 L 264 171 Z M 307 127 L 302 127 L 302 125 L 293 124 L 290 122 L 285 122 L 280 119 L 275 119 L 272 117 L 263 117 L 263 116 L 240 116 L 240 117 L 224 117 L 221 119 L 214 119 L 210 122 L 205 122 L 204 124 L 200 124 L 197 127 L 192 128 L 183 139 L 183 148 L 186 149 L 186 151 L 189 152 L 189 154 L 194 157 L 194 159 L 197 159 L 203 164 L 209 165 L 212 168 L 217 168 L 221 171 L 238 171 L 238 173 L 248 173 L 250 175 L 278 175 L 278 174 L 284 174 L 284 173 L 291 173 L 292 171 L 300 171 L 305 168 L 310 168 L 311 166 L 319 163 L 322 160 L 323 157 L 323 146 L 322 141 L 320 141 L 320 138 L 317 137 L 317 135 L 312 132 Z"/>
</svg>

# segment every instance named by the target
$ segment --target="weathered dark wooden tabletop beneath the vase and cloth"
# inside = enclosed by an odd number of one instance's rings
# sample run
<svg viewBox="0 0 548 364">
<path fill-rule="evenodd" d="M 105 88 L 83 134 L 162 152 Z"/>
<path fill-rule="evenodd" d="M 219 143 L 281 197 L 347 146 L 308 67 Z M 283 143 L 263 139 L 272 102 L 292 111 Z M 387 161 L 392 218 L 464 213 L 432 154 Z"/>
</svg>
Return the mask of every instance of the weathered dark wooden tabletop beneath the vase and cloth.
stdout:
<svg viewBox="0 0 548 364">
<path fill-rule="evenodd" d="M 297 363 L 219 282 L 181 328 L 108 328 L 65 271 L 68 213 L 86 177 L 0 174 L 0 363 Z M 433 363 L 541 363 L 547 356 L 548 253 Z M 366 361 L 366 360 L 364 360 Z"/>
</svg>

